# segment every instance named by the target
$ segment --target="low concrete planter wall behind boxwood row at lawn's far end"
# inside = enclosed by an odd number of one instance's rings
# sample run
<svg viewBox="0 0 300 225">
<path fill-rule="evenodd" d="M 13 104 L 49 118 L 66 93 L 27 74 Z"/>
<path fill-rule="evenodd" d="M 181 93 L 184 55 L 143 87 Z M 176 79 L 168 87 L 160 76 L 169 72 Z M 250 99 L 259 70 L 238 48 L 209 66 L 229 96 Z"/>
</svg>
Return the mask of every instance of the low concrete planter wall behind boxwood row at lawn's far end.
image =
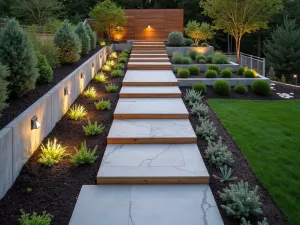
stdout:
<svg viewBox="0 0 300 225">
<path fill-rule="evenodd" d="M 179 87 L 192 87 L 195 83 L 203 83 L 207 86 L 213 86 L 217 80 L 225 80 L 230 86 L 238 84 L 251 85 L 256 80 L 265 80 L 270 83 L 267 77 L 258 75 L 257 78 L 177 78 Z"/>
</svg>

